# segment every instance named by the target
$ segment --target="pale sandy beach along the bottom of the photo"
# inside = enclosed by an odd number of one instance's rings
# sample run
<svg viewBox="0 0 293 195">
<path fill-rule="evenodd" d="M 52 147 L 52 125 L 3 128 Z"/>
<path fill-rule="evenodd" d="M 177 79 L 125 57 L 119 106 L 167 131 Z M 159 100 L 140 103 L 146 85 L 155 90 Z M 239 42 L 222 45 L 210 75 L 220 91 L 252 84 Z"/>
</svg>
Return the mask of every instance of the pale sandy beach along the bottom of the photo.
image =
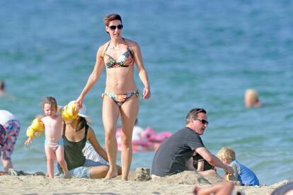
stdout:
<svg viewBox="0 0 293 195">
<path fill-rule="evenodd" d="M 220 182 L 220 177 L 203 177 L 196 172 L 182 172 L 178 175 L 147 180 L 141 171 L 132 172 L 130 181 L 122 182 L 119 177 L 105 179 L 47 179 L 43 176 L 1 176 L 1 194 L 192 194 L 194 186 L 208 187 Z M 236 191 L 245 194 L 270 194 L 288 180 L 264 187 L 239 187 Z"/>
</svg>

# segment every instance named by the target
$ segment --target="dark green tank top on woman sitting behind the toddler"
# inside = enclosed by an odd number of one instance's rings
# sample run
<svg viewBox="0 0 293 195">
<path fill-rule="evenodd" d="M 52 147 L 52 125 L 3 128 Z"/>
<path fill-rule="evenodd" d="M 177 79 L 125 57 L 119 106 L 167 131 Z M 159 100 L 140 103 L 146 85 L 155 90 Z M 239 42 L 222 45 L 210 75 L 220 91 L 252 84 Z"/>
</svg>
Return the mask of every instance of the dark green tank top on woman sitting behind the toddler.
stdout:
<svg viewBox="0 0 293 195">
<path fill-rule="evenodd" d="M 84 138 L 81 141 L 78 141 L 78 142 L 69 141 L 67 137 L 65 136 L 65 124 L 64 124 L 62 138 L 64 140 L 64 159 L 67 162 L 68 170 L 72 170 L 76 167 L 84 166 L 84 163 L 86 162 L 86 158 L 84 157 L 84 153 L 82 153 L 82 150 L 84 149 L 84 146 L 86 146 L 87 134 L 88 134 L 88 124 L 86 124 L 86 131 L 84 134 Z M 58 164 L 58 170 L 60 172 L 63 172 L 59 164 Z"/>
</svg>

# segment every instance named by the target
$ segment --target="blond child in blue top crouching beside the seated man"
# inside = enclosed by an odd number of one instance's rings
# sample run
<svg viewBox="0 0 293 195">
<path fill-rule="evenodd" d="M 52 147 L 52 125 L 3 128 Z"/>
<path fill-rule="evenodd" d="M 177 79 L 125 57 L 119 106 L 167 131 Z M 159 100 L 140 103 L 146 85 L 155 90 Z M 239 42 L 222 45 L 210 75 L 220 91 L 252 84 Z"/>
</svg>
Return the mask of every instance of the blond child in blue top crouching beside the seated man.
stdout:
<svg viewBox="0 0 293 195">
<path fill-rule="evenodd" d="M 260 182 L 254 172 L 236 160 L 235 151 L 232 148 L 224 147 L 217 153 L 217 158 L 224 164 L 233 167 L 234 175 L 226 175 L 226 180 L 239 181 L 242 185 L 259 186 Z"/>
</svg>

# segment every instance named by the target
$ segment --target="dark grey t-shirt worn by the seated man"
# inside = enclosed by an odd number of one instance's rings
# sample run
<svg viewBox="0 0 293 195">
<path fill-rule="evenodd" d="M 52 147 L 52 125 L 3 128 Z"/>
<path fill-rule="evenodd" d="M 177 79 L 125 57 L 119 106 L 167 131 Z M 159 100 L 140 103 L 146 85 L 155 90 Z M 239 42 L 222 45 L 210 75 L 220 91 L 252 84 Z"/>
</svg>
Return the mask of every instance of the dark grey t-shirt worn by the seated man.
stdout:
<svg viewBox="0 0 293 195">
<path fill-rule="evenodd" d="M 151 174 L 156 176 L 173 175 L 188 170 L 186 162 L 196 148 L 205 147 L 200 136 L 185 127 L 166 139 L 154 155 Z"/>
</svg>

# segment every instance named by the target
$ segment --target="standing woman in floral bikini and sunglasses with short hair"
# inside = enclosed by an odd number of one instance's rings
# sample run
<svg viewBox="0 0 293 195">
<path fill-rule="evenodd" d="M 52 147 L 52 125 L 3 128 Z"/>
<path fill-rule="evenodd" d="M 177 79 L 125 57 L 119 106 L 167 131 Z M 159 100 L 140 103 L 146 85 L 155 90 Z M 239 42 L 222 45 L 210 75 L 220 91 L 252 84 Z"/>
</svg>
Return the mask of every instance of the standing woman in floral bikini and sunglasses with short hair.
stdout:
<svg viewBox="0 0 293 195">
<path fill-rule="evenodd" d="M 81 107 L 86 93 L 98 81 L 106 67 L 105 92 L 103 93 L 103 126 L 105 129 L 105 147 L 109 160 L 109 171 L 105 178 L 117 176 L 117 140 L 115 131 L 117 119 L 122 120 L 122 180 L 127 180 L 132 161 L 132 129 L 139 110 L 139 92 L 134 83 L 134 63 L 139 78 L 144 85 L 142 97 L 149 99 L 151 90 L 146 70 L 142 62 L 142 54 L 137 42 L 122 37 L 122 19 L 117 14 L 110 14 L 104 19 L 105 30 L 110 40 L 98 48 L 96 64 L 93 72 L 76 99 L 77 109 Z"/>
</svg>

